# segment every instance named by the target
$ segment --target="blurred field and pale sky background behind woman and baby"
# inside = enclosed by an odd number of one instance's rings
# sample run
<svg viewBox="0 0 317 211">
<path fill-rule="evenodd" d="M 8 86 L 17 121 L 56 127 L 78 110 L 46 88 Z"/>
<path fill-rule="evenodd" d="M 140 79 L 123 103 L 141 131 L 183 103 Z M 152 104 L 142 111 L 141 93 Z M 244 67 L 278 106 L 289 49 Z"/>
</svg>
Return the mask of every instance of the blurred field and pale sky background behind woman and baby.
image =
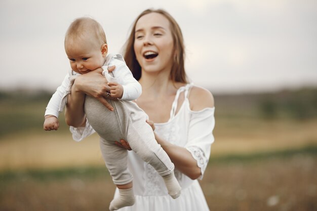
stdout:
<svg viewBox="0 0 317 211">
<path fill-rule="evenodd" d="M 215 143 L 200 181 L 211 210 L 317 210 L 317 2 L 0 2 L 0 210 L 105 210 L 114 185 L 98 137 L 43 131 L 68 60 L 70 22 L 91 16 L 122 52 L 136 16 L 179 23 L 186 70 L 215 97 Z M 195 211 L 195 210 L 193 210 Z M 199 210 L 197 210 L 199 211 Z"/>
</svg>

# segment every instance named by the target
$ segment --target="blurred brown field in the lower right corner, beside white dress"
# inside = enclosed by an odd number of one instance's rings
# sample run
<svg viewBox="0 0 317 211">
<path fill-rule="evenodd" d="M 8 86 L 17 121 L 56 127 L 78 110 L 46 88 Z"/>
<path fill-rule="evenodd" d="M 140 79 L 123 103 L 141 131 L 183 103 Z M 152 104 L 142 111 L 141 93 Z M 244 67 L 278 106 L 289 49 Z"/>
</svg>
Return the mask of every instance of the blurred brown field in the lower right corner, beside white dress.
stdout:
<svg viewBox="0 0 317 211">
<path fill-rule="evenodd" d="M 317 157 L 215 164 L 203 190 L 211 210 L 317 210 Z"/>
</svg>

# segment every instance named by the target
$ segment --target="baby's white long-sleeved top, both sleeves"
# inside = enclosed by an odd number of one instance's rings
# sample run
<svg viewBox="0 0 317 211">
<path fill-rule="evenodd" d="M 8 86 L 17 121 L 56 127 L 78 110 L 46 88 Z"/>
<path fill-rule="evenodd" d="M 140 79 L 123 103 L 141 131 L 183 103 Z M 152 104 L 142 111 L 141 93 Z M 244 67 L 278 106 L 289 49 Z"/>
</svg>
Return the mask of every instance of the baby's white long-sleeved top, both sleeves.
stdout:
<svg viewBox="0 0 317 211">
<path fill-rule="evenodd" d="M 111 72 L 113 77 L 110 76 L 108 73 L 108 66 L 115 65 L 115 69 Z M 103 75 L 109 79 L 109 81 L 118 82 L 120 85 L 123 86 L 123 96 L 121 100 L 135 100 L 138 97 L 140 97 L 142 93 L 142 87 L 140 83 L 133 77 L 130 69 L 126 65 L 123 57 L 120 54 L 109 54 L 107 56 L 106 62 L 104 66 L 101 67 L 103 69 Z M 70 71 L 71 74 L 67 74 L 61 84 L 56 90 L 56 92 L 53 94 L 51 100 L 49 101 L 46 111 L 46 115 L 54 115 L 58 117 L 59 113 L 62 112 L 66 99 L 62 103 L 62 100 L 65 96 L 67 96 L 67 93 L 65 91 L 67 90 L 69 83 L 70 83 L 70 76 L 71 75 L 81 75 L 80 73 L 76 73 L 74 71 Z M 115 78 L 115 80 L 113 79 Z"/>
</svg>

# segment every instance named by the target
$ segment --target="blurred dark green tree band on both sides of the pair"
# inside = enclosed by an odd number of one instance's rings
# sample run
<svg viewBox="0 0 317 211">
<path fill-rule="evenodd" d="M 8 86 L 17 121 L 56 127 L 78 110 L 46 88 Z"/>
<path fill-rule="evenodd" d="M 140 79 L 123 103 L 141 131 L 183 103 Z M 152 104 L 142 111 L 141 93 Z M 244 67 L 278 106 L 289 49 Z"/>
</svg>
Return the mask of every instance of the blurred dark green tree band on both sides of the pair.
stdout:
<svg viewBox="0 0 317 211">
<path fill-rule="evenodd" d="M 44 112 L 53 93 L 47 91 L 0 91 L 0 138 L 25 130 L 43 131 Z M 317 117 L 317 88 L 284 90 L 276 93 L 231 94 L 215 97 L 216 118 L 291 118 Z M 68 131 L 64 115 L 60 129 Z"/>
</svg>

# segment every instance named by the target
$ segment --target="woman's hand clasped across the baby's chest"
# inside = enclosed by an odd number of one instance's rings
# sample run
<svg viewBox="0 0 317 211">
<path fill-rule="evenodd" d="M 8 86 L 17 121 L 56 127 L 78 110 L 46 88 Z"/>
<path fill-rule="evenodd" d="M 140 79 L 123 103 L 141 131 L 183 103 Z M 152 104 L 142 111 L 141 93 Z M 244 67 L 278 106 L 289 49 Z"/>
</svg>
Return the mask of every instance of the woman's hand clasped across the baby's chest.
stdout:
<svg viewBox="0 0 317 211">
<path fill-rule="evenodd" d="M 115 66 L 108 67 L 108 71 L 112 72 Z M 110 111 L 113 111 L 113 107 L 106 101 L 117 100 L 110 96 L 110 87 L 108 86 L 107 79 L 102 75 L 102 68 L 96 69 L 89 73 L 78 76 L 75 79 L 74 85 L 77 92 L 85 93 L 99 100 Z"/>
</svg>

